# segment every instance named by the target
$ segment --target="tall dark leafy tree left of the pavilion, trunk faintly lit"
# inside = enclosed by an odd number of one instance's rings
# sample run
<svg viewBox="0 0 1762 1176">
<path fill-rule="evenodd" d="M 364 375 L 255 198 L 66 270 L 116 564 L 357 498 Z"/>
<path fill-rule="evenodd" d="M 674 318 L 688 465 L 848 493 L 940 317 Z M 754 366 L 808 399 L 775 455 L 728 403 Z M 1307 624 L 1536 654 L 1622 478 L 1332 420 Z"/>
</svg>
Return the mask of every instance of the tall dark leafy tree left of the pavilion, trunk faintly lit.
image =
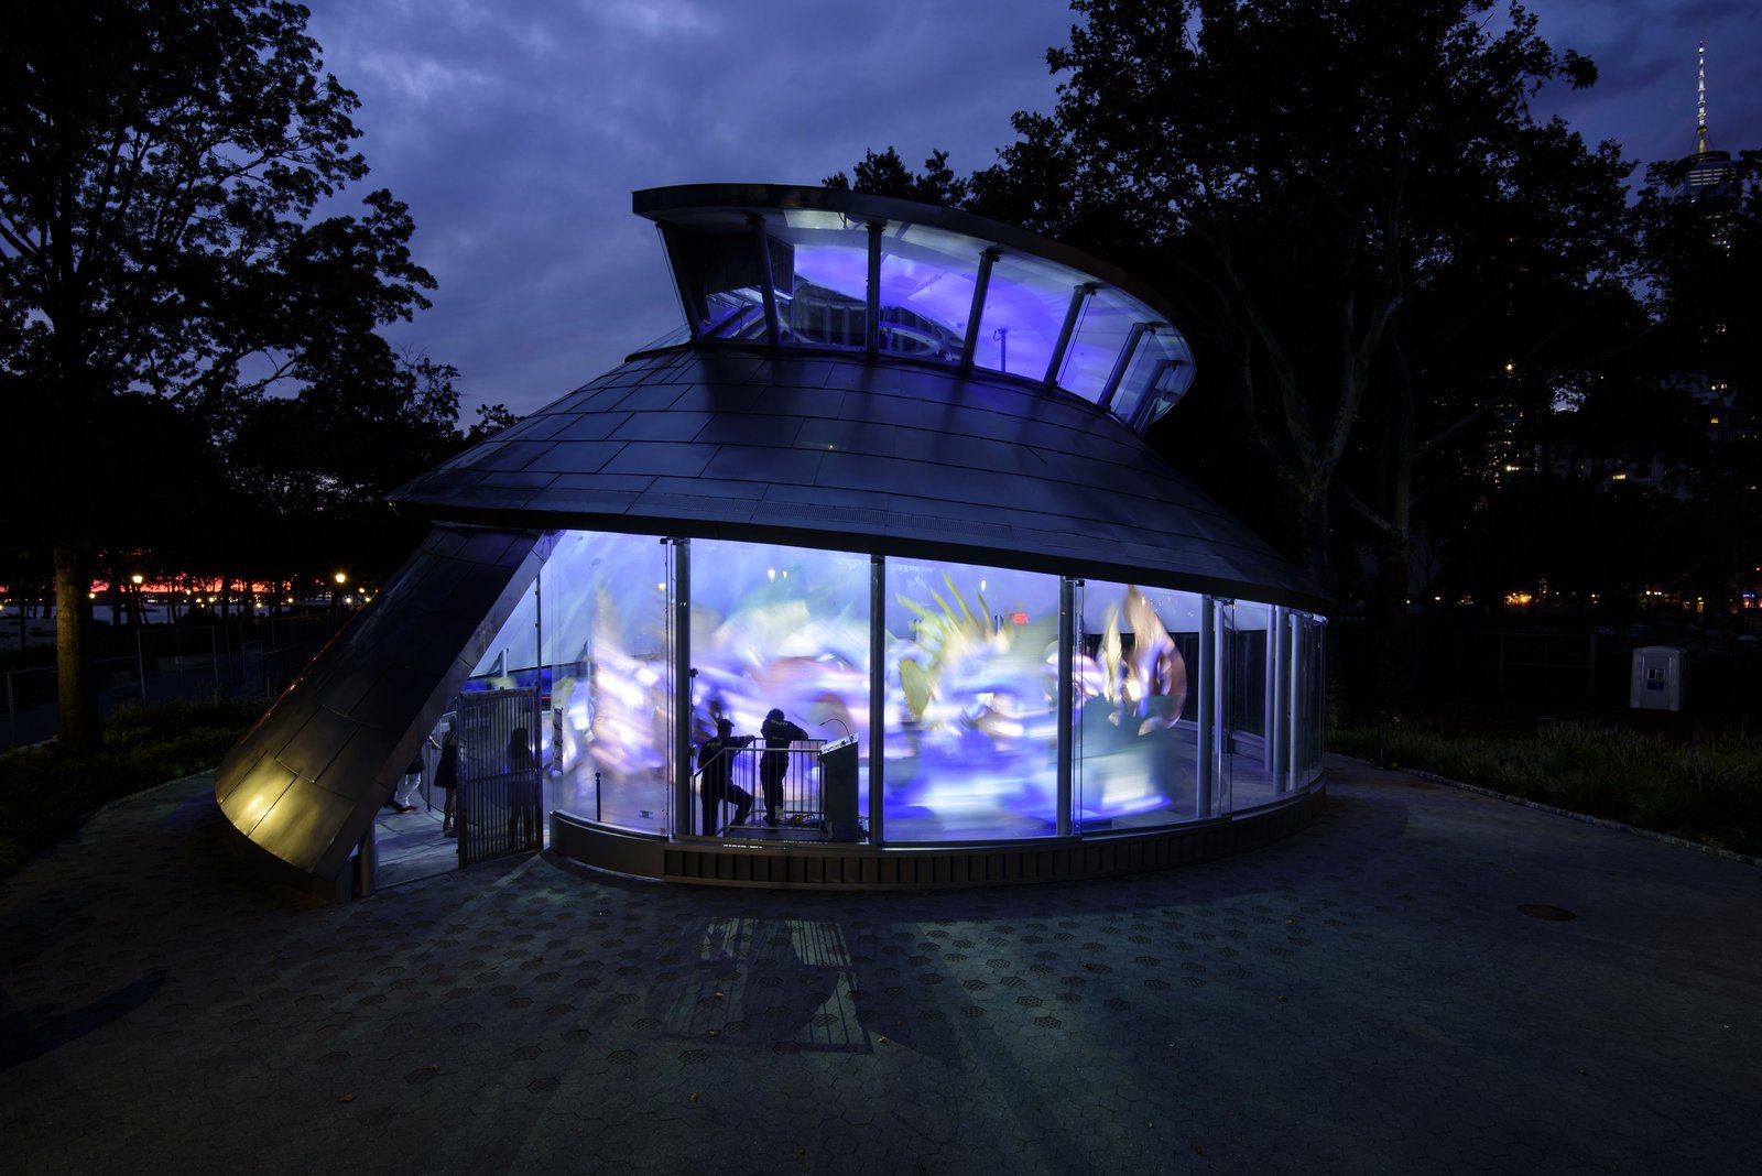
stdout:
<svg viewBox="0 0 1762 1176">
<path fill-rule="evenodd" d="M 358 99 L 282 0 L 9 4 L 0 42 L 0 366 L 55 553 L 62 746 L 90 746 L 86 584 L 130 396 L 215 431 L 282 380 L 374 370 L 433 278 L 366 174 Z M 328 215 L 321 215 L 328 213 Z"/>
</svg>

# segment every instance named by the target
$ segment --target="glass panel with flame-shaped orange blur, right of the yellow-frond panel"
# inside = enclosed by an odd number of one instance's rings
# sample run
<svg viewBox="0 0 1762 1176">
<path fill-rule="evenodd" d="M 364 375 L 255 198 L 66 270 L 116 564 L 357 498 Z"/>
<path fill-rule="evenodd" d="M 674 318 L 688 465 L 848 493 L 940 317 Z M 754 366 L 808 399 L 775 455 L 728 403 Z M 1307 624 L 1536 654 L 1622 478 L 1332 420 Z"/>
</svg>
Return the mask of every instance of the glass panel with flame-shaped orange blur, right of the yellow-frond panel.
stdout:
<svg viewBox="0 0 1762 1176">
<path fill-rule="evenodd" d="M 1203 599 L 1091 579 L 1078 590 L 1073 824 L 1078 831 L 1189 820 L 1198 787 L 1196 683 Z"/>
</svg>

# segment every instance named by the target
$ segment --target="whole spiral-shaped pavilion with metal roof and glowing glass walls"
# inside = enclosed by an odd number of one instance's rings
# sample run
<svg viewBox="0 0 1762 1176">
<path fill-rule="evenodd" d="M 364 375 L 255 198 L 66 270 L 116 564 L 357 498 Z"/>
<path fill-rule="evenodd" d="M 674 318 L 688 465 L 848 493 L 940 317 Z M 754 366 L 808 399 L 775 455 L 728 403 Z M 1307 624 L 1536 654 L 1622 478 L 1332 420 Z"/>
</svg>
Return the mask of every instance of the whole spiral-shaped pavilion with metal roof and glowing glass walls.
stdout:
<svg viewBox="0 0 1762 1176">
<path fill-rule="evenodd" d="M 217 775 L 240 852 L 370 891 L 437 746 L 460 864 L 691 882 L 1096 877 L 1316 812 L 1327 600 L 1144 442 L 1195 375 L 1159 296 L 888 197 L 634 211 L 677 338 L 393 495 L 428 540 Z"/>
</svg>

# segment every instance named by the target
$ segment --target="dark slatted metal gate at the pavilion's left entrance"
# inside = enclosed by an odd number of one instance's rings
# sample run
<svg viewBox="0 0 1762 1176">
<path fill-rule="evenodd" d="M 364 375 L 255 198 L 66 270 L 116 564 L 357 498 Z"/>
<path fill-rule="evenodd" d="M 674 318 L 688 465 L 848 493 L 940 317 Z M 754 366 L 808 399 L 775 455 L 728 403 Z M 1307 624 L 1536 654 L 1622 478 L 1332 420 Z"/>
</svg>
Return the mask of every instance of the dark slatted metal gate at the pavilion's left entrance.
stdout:
<svg viewBox="0 0 1762 1176">
<path fill-rule="evenodd" d="M 458 864 L 544 849 L 537 762 L 539 699 L 532 690 L 474 690 L 458 704 Z"/>
</svg>

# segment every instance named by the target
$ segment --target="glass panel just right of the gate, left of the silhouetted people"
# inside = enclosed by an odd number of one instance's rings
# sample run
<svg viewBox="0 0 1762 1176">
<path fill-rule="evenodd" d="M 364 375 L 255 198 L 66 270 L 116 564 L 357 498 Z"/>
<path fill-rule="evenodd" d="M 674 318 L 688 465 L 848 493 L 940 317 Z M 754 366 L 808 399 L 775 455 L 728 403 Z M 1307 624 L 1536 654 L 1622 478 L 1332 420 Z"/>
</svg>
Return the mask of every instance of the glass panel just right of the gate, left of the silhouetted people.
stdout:
<svg viewBox="0 0 1762 1176">
<path fill-rule="evenodd" d="M 539 576 L 546 801 L 664 833 L 673 731 L 668 548 L 654 535 L 562 532 Z"/>
</svg>

